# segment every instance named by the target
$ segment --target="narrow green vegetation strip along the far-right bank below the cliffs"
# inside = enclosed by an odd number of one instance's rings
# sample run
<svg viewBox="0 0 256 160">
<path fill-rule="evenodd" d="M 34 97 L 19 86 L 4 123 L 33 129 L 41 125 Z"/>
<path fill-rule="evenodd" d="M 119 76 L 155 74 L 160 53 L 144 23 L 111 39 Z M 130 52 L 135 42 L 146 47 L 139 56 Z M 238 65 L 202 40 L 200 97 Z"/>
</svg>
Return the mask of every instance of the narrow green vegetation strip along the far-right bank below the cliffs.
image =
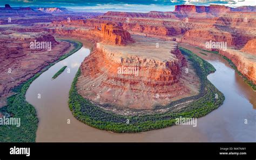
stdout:
<svg viewBox="0 0 256 160">
<path fill-rule="evenodd" d="M 217 51 L 210 51 L 210 50 L 204 50 L 204 49 L 201 49 L 199 47 L 196 47 L 197 49 L 200 49 L 200 50 L 203 50 L 205 52 L 208 52 L 208 53 L 213 53 L 213 54 L 218 54 L 220 55 L 221 57 L 223 57 L 224 60 L 226 60 L 228 62 L 228 64 L 230 64 L 230 66 L 235 70 L 235 72 L 237 72 L 237 74 L 239 76 L 242 77 L 242 79 L 244 79 L 244 82 L 247 83 L 249 86 L 251 86 L 251 88 L 256 91 L 256 84 L 254 84 L 252 81 L 250 81 L 245 75 L 243 75 L 238 69 L 237 69 L 237 66 L 235 66 L 235 64 L 230 60 L 228 59 L 228 57 L 224 56 L 224 55 L 221 55 L 219 52 Z"/>
</svg>

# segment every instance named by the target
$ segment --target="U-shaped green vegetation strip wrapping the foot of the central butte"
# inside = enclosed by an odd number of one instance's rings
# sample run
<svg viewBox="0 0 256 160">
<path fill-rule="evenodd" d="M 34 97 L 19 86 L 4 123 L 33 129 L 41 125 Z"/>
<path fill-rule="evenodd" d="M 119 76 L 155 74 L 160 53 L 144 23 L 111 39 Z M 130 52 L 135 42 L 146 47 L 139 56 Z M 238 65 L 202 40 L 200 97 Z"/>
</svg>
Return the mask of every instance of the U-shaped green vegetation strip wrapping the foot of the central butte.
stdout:
<svg viewBox="0 0 256 160">
<path fill-rule="evenodd" d="M 212 112 L 222 105 L 225 99 L 223 93 L 215 88 L 207 79 L 207 75 L 215 71 L 214 67 L 196 54 L 193 54 L 190 50 L 184 48 L 180 48 L 180 50 L 184 55 L 188 56 L 188 59 L 193 63 L 197 75 L 200 77 L 200 93 L 197 96 L 174 101 L 168 106 L 158 107 L 172 107 L 175 104 L 194 100 L 188 106 L 179 111 L 140 116 L 125 116 L 105 111 L 78 94 L 76 83 L 80 76 L 79 69 L 69 92 L 69 107 L 72 114 L 79 121 L 98 129 L 109 130 L 116 133 L 135 133 L 175 125 L 175 119 L 180 116 L 183 118 L 199 118 Z M 129 123 L 127 123 L 128 120 Z"/>
</svg>

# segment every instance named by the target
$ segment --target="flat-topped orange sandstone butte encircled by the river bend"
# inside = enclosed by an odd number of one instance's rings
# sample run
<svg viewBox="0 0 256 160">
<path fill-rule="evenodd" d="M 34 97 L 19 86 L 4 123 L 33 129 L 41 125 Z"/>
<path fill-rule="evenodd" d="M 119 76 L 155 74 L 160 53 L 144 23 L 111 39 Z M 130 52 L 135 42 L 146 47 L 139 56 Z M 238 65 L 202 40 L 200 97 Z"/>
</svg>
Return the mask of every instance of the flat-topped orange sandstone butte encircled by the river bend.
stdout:
<svg viewBox="0 0 256 160">
<path fill-rule="evenodd" d="M 77 82 L 83 97 L 98 104 L 151 110 L 155 105 L 198 94 L 199 78 L 177 42 L 138 35 L 132 38 L 135 42 L 125 46 L 100 42 L 85 58 Z M 138 72 L 120 74 L 122 67 Z M 189 75 L 186 68 L 191 69 Z"/>
</svg>

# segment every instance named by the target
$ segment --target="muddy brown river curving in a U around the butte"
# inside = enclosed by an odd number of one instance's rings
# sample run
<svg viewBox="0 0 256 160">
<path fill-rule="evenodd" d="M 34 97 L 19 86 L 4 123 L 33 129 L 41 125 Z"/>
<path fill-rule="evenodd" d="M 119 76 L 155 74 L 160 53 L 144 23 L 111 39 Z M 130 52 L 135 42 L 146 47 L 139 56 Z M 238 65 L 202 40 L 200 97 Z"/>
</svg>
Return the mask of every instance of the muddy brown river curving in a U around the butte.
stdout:
<svg viewBox="0 0 256 160">
<path fill-rule="evenodd" d="M 198 53 L 194 47 L 183 47 Z M 197 127 L 172 126 L 141 133 L 110 133 L 75 119 L 69 110 L 69 90 L 76 72 L 90 49 L 82 47 L 56 63 L 32 82 L 26 100 L 37 111 L 39 119 L 36 142 L 255 142 L 256 92 L 220 56 L 198 53 L 216 71 L 208 79 L 221 92 L 222 106 L 197 120 Z M 63 66 L 67 69 L 56 79 L 51 77 Z M 70 73 L 68 72 L 70 69 Z M 38 99 L 41 94 L 41 99 Z M 70 124 L 67 123 L 70 119 Z M 247 123 L 246 123 L 247 121 Z"/>
</svg>

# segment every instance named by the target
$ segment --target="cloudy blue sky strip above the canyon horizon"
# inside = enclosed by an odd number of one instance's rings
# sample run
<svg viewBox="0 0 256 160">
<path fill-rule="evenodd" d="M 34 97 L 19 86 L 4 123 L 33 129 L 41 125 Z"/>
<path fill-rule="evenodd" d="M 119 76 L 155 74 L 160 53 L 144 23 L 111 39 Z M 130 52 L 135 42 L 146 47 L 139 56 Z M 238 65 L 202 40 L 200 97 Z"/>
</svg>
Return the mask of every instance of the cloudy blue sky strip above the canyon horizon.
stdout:
<svg viewBox="0 0 256 160">
<path fill-rule="evenodd" d="M 0 0 L 0 6 L 64 7 L 72 11 L 173 11 L 175 5 L 220 4 L 231 7 L 256 5 L 256 0 Z"/>
</svg>

